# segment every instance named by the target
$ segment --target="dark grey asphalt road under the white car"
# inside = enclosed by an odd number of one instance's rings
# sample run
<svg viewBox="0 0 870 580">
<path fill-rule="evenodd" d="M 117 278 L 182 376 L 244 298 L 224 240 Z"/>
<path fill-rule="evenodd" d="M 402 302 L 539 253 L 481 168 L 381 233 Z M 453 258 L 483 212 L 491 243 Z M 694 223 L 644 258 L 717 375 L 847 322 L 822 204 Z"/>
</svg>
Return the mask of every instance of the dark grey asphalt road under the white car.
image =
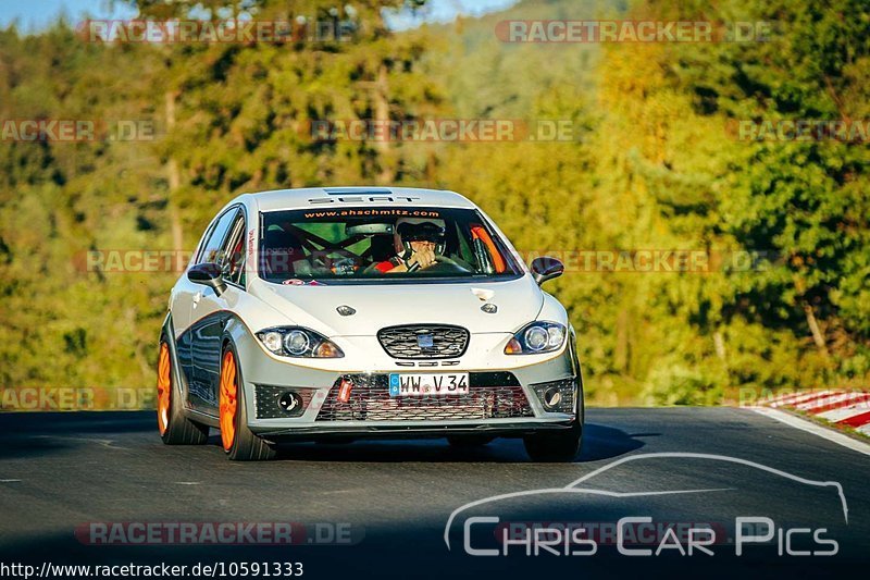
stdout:
<svg viewBox="0 0 870 580">
<path fill-rule="evenodd" d="M 828 576 L 870 565 L 870 458 L 745 409 L 588 409 L 583 453 L 569 465 L 533 464 L 513 440 L 473 449 L 445 440 L 298 444 L 276 461 L 238 464 L 216 436 L 165 446 L 154 423 L 151 412 L 0 415 L 0 563 L 301 562 L 306 578 L 577 579 Z M 641 455 L 649 456 L 624 460 Z M 617 521 L 645 516 L 659 533 L 630 523 L 624 544 L 652 555 L 621 554 L 610 534 Z M 774 538 L 744 539 L 737 556 L 738 517 L 770 518 Z M 197 533 L 219 522 L 297 527 L 289 546 L 124 543 L 135 541 L 136 522 L 164 532 L 199 522 Z M 465 553 L 467 536 L 473 548 L 501 547 L 506 522 L 514 533 L 530 522 L 582 523 L 596 553 L 566 556 L 561 544 L 558 556 L 540 546 L 529 556 L 521 544 L 507 556 Z M 712 529 L 712 555 L 656 555 L 668 526 L 682 530 L 683 550 L 688 528 Z M 107 529 L 115 543 L 95 544 Z M 753 533 L 766 531 L 759 523 Z M 334 534 L 341 543 L 330 544 Z M 830 540 L 836 554 L 819 554 L 833 550 Z M 800 550 L 817 554 L 790 555 Z"/>
</svg>

